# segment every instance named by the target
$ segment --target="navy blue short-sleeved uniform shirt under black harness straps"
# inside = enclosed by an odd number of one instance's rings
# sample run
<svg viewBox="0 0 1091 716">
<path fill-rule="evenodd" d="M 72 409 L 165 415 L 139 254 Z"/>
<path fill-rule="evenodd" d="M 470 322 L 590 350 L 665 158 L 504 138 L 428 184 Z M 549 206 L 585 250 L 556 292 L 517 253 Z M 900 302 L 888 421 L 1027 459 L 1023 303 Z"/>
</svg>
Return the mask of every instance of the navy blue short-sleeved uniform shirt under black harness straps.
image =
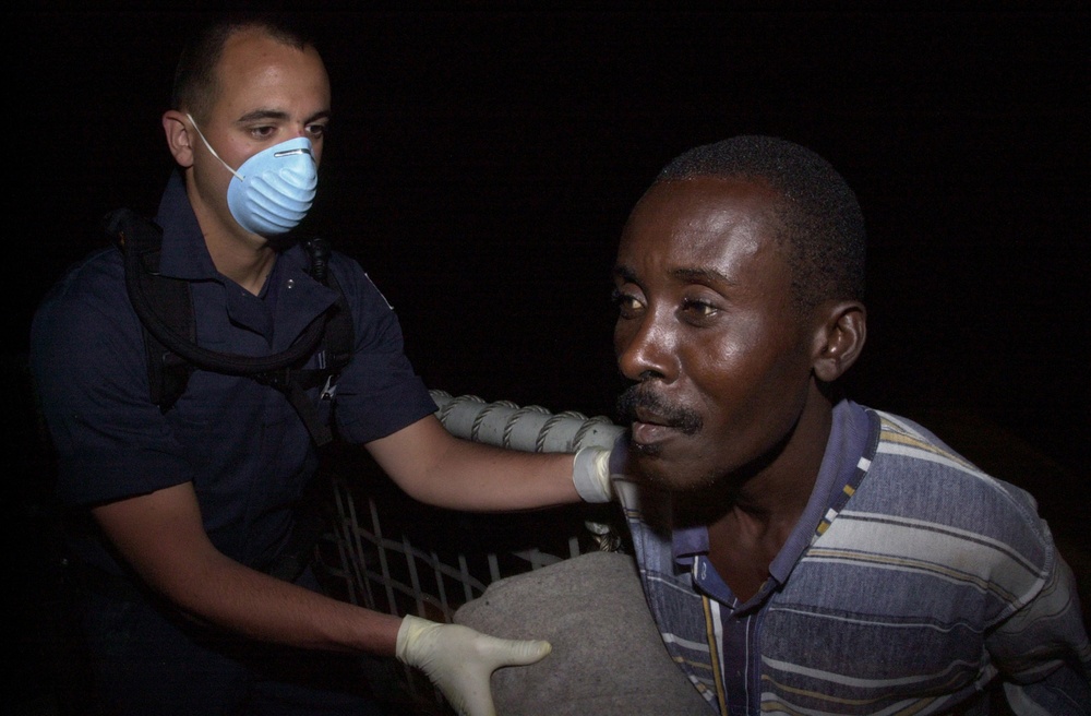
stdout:
<svg viewBox="0 0 1091 716">
<path fill-rule="evenodd" d="M 277 258 L 260 296 L 220 275 L 178 174 L 156 222 L 164 229 L 160 273 L 190 283 L 205 348 L 278 353 L 336 299 L 307 274 L 307 252 L 298 246 Z M 334 397 L 320 408 L 341 438 L 365 443 L 433 413 L 435 404 L 404 354 L 397 315 L 360 265 L 334 252 L 329 270 L 349 302 L 356 347 Z M 64 504 L 86 508 L 192 481 L 205 530 L 221 552 L 259 569 L 275 559 L 317 466 L 305 427 L 278 391 L 201 370 L 160 413 L 151 402 L 120 251 L 95 253 L 59 282 L 35 315 L 31 350 Z M 317 393 L 311 391 L 316 401 Z M 74 547 L 77 557 L 117 571 L 94 539 Z"/>
</svg>

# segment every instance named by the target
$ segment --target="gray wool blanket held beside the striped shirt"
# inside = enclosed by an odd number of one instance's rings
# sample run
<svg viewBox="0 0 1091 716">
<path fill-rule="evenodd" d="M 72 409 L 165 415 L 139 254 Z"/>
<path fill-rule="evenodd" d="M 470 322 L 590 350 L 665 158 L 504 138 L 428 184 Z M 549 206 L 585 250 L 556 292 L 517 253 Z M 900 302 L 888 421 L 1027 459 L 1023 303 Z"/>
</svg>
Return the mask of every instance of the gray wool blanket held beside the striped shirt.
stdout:
<svg viewBox="0 0 1091 716">
<path fill-rule="evenodd" d="M 494 636 L 553 645 L 538 664 L 493 673 L 500 716 L 715 711 L 668 656 L 627 554 L 589 552 L 499 580 L 454 620 Z"/>
</svg>

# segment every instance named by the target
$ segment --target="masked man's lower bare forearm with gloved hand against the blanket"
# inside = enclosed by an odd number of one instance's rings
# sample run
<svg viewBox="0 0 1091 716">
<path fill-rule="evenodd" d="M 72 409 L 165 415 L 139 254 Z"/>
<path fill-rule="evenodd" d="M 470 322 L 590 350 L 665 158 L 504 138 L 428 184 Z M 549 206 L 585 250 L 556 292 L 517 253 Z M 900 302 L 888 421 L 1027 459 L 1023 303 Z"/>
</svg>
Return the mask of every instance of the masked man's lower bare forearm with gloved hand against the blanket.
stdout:
<svg viewBox="0 0 1091 716">
<path fill-rule="evenodd" d="M 253 640 L 395 656 L 422 669 L 460 713 L 494 716 L 489 676 L 549 653 L 546 642 L 383 614 L 249 569 L 208 539 L 189 482 L 92 513 L 141 578 L 184 613 Z"/>
</svg>

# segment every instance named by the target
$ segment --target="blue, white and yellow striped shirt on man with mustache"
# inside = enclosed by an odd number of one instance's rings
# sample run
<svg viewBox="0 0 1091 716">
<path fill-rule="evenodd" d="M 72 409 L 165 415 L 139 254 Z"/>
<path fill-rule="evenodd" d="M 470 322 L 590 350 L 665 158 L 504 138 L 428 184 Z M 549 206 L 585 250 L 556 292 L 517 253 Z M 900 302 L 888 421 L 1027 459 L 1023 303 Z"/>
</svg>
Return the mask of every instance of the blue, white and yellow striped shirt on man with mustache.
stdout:
<svg viewBox="0 0 1091 716">
<path fill-rule="evenodd" d="M 811 504 L 744 604 L 704 528 L 614 481 L 668 651 L 715 712 L 988 714 L 1002 689 L 1020 716 L 1091 714 L 1075 582 L 1033 499 L 909 420 L 836 406 Z"/>
</svg>

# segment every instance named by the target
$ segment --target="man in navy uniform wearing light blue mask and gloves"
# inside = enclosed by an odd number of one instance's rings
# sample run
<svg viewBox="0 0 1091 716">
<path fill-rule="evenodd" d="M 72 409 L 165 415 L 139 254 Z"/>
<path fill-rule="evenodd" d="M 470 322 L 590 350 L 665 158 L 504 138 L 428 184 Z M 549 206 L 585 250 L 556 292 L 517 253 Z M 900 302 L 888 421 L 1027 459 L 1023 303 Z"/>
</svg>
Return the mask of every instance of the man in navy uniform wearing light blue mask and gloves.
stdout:
<svg viewBox="0 0 1091 716">
<path fill-rule="evenodd" d="M 155 217 L 156 273 L 187 287 L 200 347 L 284 350 L 338 300 L 308 273 L 302 247 L 271 242 L 310 208 L 329 114 L 317 51 L 275 21 L 219 22 L 187 48 L 163 115 L 179 170 Z M 480 511 L 610 499 L 606 451 L 574 458 L 451 437 L 382 294 L 337 252 L 328 273 L 355 344 L 336 392 L 310 393 L 319 420 L 336 419 L 407 493 Z M 74 267 L 35 317 L 57 491 L 79 525 L 70 560 L 100 701 L 88 713 L 385 713 L 344 670 L 322 681 L 324 655 L 339 652 L 396 656 L 457 711 L 487 716 L 491 672 L 549 653 L 331 599 L 309 570 L 285 576 L 292 505 L 316 465 L 312 426 L 268 384 L 204 369 L 160 409 L 147 360 L 113 248 Z"/>
</svg>

